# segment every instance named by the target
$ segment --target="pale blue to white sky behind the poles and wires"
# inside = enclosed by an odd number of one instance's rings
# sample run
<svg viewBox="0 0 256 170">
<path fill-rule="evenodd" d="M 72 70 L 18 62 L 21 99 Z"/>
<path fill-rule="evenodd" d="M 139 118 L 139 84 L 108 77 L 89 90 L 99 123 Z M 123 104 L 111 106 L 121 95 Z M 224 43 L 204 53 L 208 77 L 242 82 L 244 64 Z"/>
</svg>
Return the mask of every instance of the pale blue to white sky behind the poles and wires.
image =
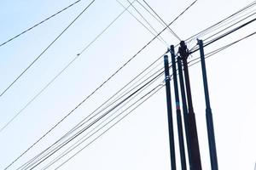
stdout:
<svg viewBox="0 0 256 170">
<path fill-rule="evenodd" d="M 0 43 L 74 2 L 74 0 L 0 1 Z M 123 3 L 125 7 L 129 5 L 126 0 L 119 2 Z M 139 2 L 143 3 L 141 0 Z M 20 72 L 24 71 L 26 66 L 33 59 L 36 59 L 89 3 L 90 1 L 82 0 L 55 18 L 1 46 L 0 92 L 8 88 L 9 84 L 20 75 Z M 148 0 L 147 3 L 166 23 L 170 23 L 193 1 Z M 209 2 L 198 0 L 194 6 L 172 24 L 171 28 L 178 37 L 184 40 L 208 26 L 212 26 L 219 20 L 223 20 L 248 3 L 252 3 L 252 1 L 216 0 Z M 164 28 L 139 3 L 134 2 L 133 4 L 157 32 Z M 130 7 L 129 10 L 131 14 L 135 14 L 139 20 L 143 21 L 134 8 Z M 3 127 L 55 75 L 72 59 L 76 58 L 73 64 L 55 79 L 55 82 L 51 83 L 37 99 L 34 99 L 20 112 L 13 122 L 9 123 L 9 126 L 1 131 L 0 169 L 4 169 L 17 156 L 20 156 L 24 150 L 59 122 L 63 116 L 66 116 L 69 111 L 72 111 L 76 105 L 154 37 L 131 14 L 125 11 L 101 37 L 93 42 L 83 54 L 80 54 L 122 11 L 124 8 L 115 0 L 96 0 L 42 57 L 0 97 L 0 127 Z M 253 17 L 250 19 L 252 20 Z M 143 23 L 147 25 L 146 22 L 143 21 Z M 205 53 L 247 36 L 255 31 L 255 26 L 255 23 L 252 23 L 236 31 L 236 33 L 212 43 L 205 48 Z M 155 39 L 128 65 L 125 65 L 113 79 L 86 100 L 83 105 L 80 105 L 71 116 L 68 116 L 64 122 L 61 122 L 58 127 L 9 169 L 17 169 L 22 163 L 38 154 L 39 151 L 47 148 L 49 144 L 53 144 L 119 88 L 164 54 L 169 45 L 179 43 L 179 40 L 169 31 L 164 31 L 161 37 L 167 44 Z M 205 37 L 198 38 L 204 39 Z M 256 116 L 253 99 L 256 96 L 254 88 L 256 87 L 254 78 L 256 59 L 253 56 L 255 40 L 255 37 L 249 37 L 206 60 L 219 169 L 244 170 L 253 169 L 255 166 L 256 134 L 254 131 L 256 129 Z M 192 48 L 195 43 L 188 44 L 188 47 Z M 77 54 L 80 54 L 79 57 Z M 197 52 L 189 59 L 195 59 L 198 56 L 199 53 Z M 163 59 L 160 59 L 156 65 L 156 68 L 163 66 Z M 202 168 L 211 169 L 201 65 L 191 66 L 189 75 Z M 162 76 L 148 89 L 160 85 L 163 80 L 164 77 Z M 146 94 L 147 90 L 143 93 Z M 140 96 L 143 94 L 138 95 L 137 99 Z M 176 120 L 174 111 L 173 120 Z M 176 150 L 178 150 L 176 121 L 174 121 L 174 127 Z M 86 144 L 88 143 L 82 144 L 80 148 Z M 68 156 L 64 160 L 67 158 Z M 181 169 L 178 151 L 176 158 L 177 169 Z M 49 167 L 49 169 L 55 169 L 62 161 Z M 42 169 L 47 162 L 35 169 Z M 165 88 L 161 88 L 157 94 L 148 99 L 137 110 L 132 111 L 131 115 L 126 116 L 108 133 L 102 135 L 100 139 L 96 139 L 60 169 L 84 168 L 91 170 L 171 169 Z"/>
</svg>

